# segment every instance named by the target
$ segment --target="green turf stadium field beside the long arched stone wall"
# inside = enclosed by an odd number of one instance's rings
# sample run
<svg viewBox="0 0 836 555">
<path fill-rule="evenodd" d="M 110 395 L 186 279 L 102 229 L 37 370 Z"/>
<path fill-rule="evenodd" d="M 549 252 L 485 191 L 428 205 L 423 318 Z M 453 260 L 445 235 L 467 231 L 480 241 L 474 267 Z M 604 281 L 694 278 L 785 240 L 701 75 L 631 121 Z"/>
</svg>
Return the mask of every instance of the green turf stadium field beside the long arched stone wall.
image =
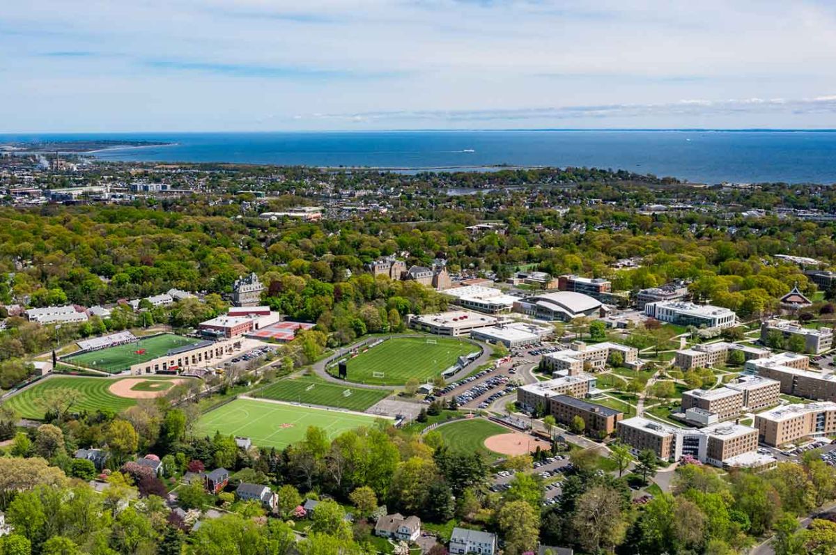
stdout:
<svg viewBox="0 0 836 555">
<path fill-rule="evenodd" d="M 117 374 L 122 370 L 129 369 L 131 364 L 148 362 L 165 355 L 176 347 L 196 343 L 199 343 L 198 339 L 182 337 L 181 335 L 152 335 L 147 338 L 140 338 L 137 343 L 117 345 L 116 347 L 89 351 L 88 353 L 70 354 L 63 360 L 70 364 L 78 364 L 79 366 L 110 372 L 110 374 Z M 136 351 L 142 351 L 143 349 L 145 352 L 136 354 Z"/>
</svg>

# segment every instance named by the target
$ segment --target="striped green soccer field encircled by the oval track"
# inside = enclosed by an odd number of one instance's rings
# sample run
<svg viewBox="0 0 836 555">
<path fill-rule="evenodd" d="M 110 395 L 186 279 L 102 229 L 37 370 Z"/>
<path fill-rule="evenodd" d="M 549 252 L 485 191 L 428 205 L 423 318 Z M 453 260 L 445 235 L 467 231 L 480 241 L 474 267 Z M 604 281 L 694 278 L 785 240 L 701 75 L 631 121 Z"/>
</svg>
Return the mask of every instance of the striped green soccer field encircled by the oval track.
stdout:
<svg viewBox="0 0 836 555">
<path fill-rule="evenodd" d="M 349 359 L 348 380 L 359 384 L 403 385 L 408 379 L 416 378 L 425 383 L 456 364 L 461 355 L 478 350 L 476 345 L 459 339 L 396 337 Z M 337 367 L 330 372 L 336 374 Z"/>
</svg>

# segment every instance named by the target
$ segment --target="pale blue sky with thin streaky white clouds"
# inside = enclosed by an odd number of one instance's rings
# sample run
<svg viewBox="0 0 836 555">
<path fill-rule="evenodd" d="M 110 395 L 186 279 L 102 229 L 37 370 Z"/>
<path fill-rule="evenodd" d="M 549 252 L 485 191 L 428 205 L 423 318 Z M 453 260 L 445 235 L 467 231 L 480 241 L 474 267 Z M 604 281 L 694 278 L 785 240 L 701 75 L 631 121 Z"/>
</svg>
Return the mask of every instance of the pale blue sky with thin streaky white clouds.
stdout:
<svg viewBox="0 0 836 555">
<path fill-rule="evenodd" d="M 544 128 L 836 128 L 836 2 L 0 9 L 0 132 Z"/>
</svg>

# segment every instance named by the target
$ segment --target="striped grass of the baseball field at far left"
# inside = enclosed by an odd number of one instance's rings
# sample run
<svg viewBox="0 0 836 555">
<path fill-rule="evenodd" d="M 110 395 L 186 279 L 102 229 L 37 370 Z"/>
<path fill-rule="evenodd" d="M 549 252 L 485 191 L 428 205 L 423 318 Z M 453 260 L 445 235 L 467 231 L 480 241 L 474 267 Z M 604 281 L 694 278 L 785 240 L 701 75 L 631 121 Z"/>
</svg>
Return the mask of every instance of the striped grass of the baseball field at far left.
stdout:
<svg viewBox="0 0 836 555">
<path fill-rule="evenodd" d="M 166 384 L 165 378 L 155 378 L 153 382 L 161 382 Z M 72 411 L 89 410 L 95 411 L 99 409 L 113 410 L 120 412 L 130 406 L 136 404 L 133 399 L 125 399 L 110 393 L 108 388 L 114 384 L 114 379 L 107 378 L 69 378 L 64 376 L 56 376 L 54 378 L 43 379 L 38 384 L 33 385 L 28 390 L 23 390 L 18 395 L 9 397 L 3 404 L 17 410 L 23 418 L 31 418 L 39 420 L 43 418 L 43 408 L 38 406 L 35 402 L 43 395 L 44 391 L 54 390 L 57 388 L 67 388 L 71 390 L 79 390 L 84 394 L 84 399 L 79 401 L 78 405 L 71 407 Z M 149 382 L 140 382 L 138 385 L 148 384 Z M 166 384 L 171 386 L 171 384 Z M 137 386 L 132 388 L 137 389 Z M 145 390 L 150 391 L 150 390 Z"/>
</svg>

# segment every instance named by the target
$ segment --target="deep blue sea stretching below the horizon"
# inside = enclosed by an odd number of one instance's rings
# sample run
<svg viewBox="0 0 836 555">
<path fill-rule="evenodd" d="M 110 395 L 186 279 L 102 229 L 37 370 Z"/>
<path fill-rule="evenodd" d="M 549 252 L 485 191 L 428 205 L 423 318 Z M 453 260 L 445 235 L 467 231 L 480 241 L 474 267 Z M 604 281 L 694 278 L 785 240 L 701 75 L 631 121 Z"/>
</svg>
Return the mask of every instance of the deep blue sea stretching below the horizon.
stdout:
<svg viewBox="0 0 836 555">
<path fill-rule="evenodd" d="M 577 165 L 706 183 L 836 183 L 836 132 L 545 130 L 0 135 L 0 141 L 24 138 L 176 143 L 97 153 L 102 160 L 387 168 Z"/>
</svg>

